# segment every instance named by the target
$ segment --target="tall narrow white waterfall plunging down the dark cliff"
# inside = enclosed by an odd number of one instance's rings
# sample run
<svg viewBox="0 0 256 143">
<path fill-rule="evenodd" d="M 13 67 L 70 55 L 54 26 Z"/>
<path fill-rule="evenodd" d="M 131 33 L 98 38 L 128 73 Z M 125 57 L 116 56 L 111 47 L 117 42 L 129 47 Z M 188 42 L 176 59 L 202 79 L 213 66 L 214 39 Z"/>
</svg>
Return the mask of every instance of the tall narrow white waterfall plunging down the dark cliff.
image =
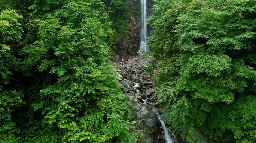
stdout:
<svg viewBox="0 0 256 143">
<path fill-rule="evenodd" d="M 140 49 L 149 51 L 146 46 L 147 42 L 147 0 L 141 0 L 141 33 L 140 33 Z"/>
</svg>

